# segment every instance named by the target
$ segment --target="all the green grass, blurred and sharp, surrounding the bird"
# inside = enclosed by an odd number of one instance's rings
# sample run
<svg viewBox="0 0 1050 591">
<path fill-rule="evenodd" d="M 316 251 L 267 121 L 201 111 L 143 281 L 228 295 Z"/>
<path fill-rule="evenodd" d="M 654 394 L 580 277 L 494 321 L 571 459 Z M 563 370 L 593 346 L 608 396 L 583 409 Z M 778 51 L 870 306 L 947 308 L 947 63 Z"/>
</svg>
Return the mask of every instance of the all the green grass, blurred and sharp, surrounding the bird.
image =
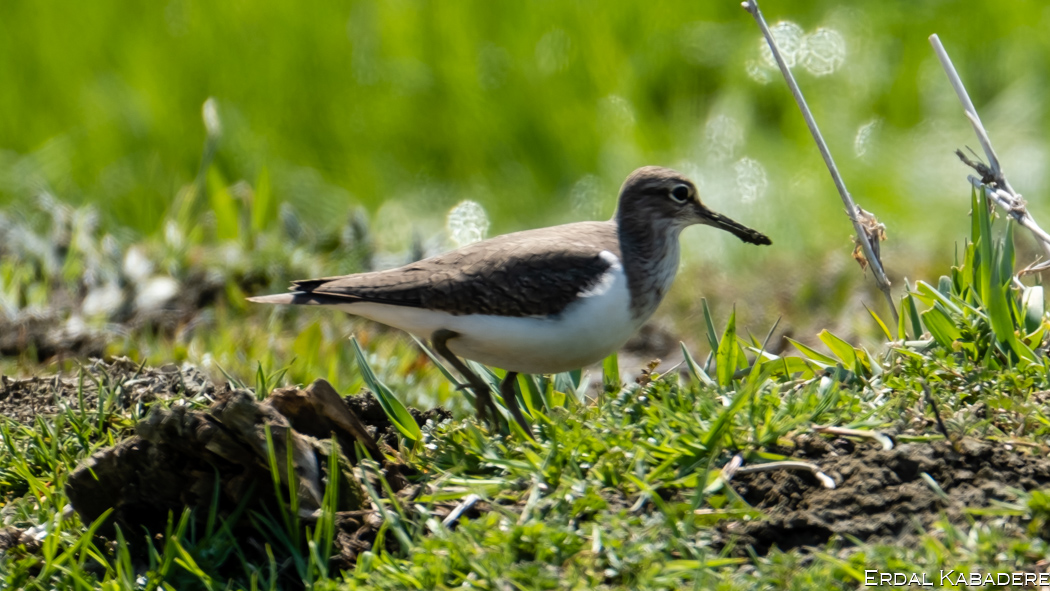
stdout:
<svg viewBox="0 0 1050 591">
<path fill-rule="evenodd" d="M 800 83 L 852 192 L 888 226 L 896 326 L 888 311 L 855 305 L 879 300 L 857 288 L 848 227 L 782 86 L 748 77 L 758 34 L 736 2 L 0 4 L 0 317 L 54 311 L 57 325 L 110 331 L 106 354 L 190 362 L 259 396 L 316 378 L 340 393 L 368 385 L 433 488 L 405 507 L 366 482 L 393 543 L 346 572 L 326 560 L 331 523 L 300 529 L 294 494 L 280 514 L 251 516 L 271 542 L 261 558 L 216 527 L 214 510 L 98 537 L 98 524 L 66 509 L 67 474 L 146 411 L 122 408 L 121 384 L 106 383 L 94 407 L 0 418 L 0 525 L 40 539 L 0 556 L 0 588 L 277 589 L 290 577 L 316 589 L 852 589 L 865 569 L 1014 571 L 1042 560 L 1050 503 L 1040 490 L 988 519 L 942 520 L 908 546 L 716 549 L 719 524 L 763 516 L 722 466 L 790 457 L 814 424 L 928 443 L 945 437 L 932 400 L 952 444 L 1038 447 L 1050 425 L 1042 288 L 1013 282 L 1029 247 L 982 195 L 966 224 L 952 150 L 972 141 L 926 46 L 934 31 L 948 44 L 1015 186 L 1037 195 L 1050 121 L 1038 100 L 1050 39 L 1037 30 L 1050 13 L 784 4 L 763 3 L 766 17 L 845 37 L 846 66 Z M 724 121 L 739 143 L 712 149 Z M 870 122 L 867 151 L 852 151 Z M 733 168 L 744 156 L 769 182 L 752 202 Z M 407 339 L 244 301 L 445 248 L 446 212 L 463 198 L 485 208 L 494 233 L 607 216 L 623 177 L 654 163 L 696 175 L 710 205 L 776 248 L 687 234 L 686 272 L 662 311 L 686 341 L 685 375 L 624 384 L 628 367 L 611 357 L 601 380 L 589 377 L 601 382 L 593 399 L 580 374 L 523 377 L 536 442 L 464 419 L 465 397 Z M 1046 217 L 1041 199 L 1030 207 Z M 147 276 L 210 286 L 202 312 L 81 317 L 93 290 L 117 286 L 125 302 L 145 290 L 129 252 L 150 262 Z M 778 315 L 795 337 L 790 355 L 751 334 L 772 335 Z M 0 370 L 76 375 L 76 358 L 38 353 Z M 449 405 L 457 419 L 414 429 L 402 403 Z M 491 510 L 455 528 L 427 514 L 469 494 Z M 164 543 L 135 554 L 149 534 Z"/>
</svg>

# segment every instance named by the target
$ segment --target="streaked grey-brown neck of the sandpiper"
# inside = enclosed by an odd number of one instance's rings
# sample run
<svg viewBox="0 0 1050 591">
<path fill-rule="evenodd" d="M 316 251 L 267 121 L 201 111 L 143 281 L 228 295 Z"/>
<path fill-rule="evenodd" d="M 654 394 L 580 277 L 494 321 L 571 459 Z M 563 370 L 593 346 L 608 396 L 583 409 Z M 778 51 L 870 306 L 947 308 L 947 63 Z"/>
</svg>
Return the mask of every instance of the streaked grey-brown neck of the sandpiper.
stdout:
<svg viewBox="0 0 1050 591">
<path fill-rule="evenodd" d="M 621 209 L 617 225 L 631 315 L 645 322 L 671 289 L 678 270 L 678 235 L 684 227 L 648 210 Z"/>
</svg>

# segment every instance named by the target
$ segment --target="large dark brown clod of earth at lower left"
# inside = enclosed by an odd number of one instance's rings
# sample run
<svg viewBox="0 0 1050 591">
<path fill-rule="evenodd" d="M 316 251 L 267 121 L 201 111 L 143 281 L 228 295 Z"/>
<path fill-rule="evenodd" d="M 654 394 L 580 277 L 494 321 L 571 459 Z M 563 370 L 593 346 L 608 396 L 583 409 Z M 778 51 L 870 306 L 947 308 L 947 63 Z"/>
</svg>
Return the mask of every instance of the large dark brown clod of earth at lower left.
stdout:
<svg viewBox="0 0 1050 591">
<path fill-rule="evenodd" d="M 343 455 L 348 445 L 340 442 L 332 448 L 326 440 L 295 428 L 307 417 L 304 413 L 282 413 L 282 406 L 293 410 L 309 407 L 316 420 L 324 417 L 323 409 L 317 408 L 345 408 L 328 382 L 318 383 L 323 385 L 306 391 L 286 388 L 282 394 L 293 396 L 295 402 L 284 405 L 278 400 L 287 396 L 275 394 L 258 401 L 250 391 L 227 386 L 207 409 L 186 404 L 154 406 L 135 426 L 135 437 L 96 452 L 69 474 L 69 503 L 84 523 L 112 509 L 109 521 L 125 530 L 145 526 L 156 531 L 164 527 L 169 511 L 207 508 L 213 500 L 218 501 L 224 514 L 235 512 L 245 502 L 272 510 L 275 500 L 267 484 L 279 477 L 285 487 L 296 490 L 298 506 L 307 513 L 322 506 L 326 483 L 332 479 L 339 481 L 339 509 L 358 510 L 364 504 L 364 493 Z M 330 430 L 324 436 L 345 435 L 353 451 L 354 432 L 362 431 L 352 425 L 350 432 Z M 365 436 L 360 443 L 382 461 L 374 440 Z M 339 466 L 335 473 L 330 473 L 332 461 Z M 278 467 L 273 477 L 272 465 Z"/>
</svg>

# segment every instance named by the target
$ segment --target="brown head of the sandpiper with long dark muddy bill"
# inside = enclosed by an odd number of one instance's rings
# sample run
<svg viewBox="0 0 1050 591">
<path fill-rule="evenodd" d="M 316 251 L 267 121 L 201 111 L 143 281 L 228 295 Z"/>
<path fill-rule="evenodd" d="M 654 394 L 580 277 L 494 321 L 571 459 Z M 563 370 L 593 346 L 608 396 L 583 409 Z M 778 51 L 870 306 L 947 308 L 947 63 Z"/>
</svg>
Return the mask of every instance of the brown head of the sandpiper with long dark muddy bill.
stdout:
<svg viewBox="0 0 1050 591">
<path fill-rule="evenodd" d="M 708 209 L 700 202 L 692 181 L 675 170 L 658 166 L 639 168 L 627 177 L 620 189 L 616 219 L 621 226 L 643 223 L 649 227 L 666 226 L 669 230 L 704 224 L 752 245 L 773 244 L 765 234 Z M 648 224 L 644 224 L 646 221 Z"/>
</svg>

